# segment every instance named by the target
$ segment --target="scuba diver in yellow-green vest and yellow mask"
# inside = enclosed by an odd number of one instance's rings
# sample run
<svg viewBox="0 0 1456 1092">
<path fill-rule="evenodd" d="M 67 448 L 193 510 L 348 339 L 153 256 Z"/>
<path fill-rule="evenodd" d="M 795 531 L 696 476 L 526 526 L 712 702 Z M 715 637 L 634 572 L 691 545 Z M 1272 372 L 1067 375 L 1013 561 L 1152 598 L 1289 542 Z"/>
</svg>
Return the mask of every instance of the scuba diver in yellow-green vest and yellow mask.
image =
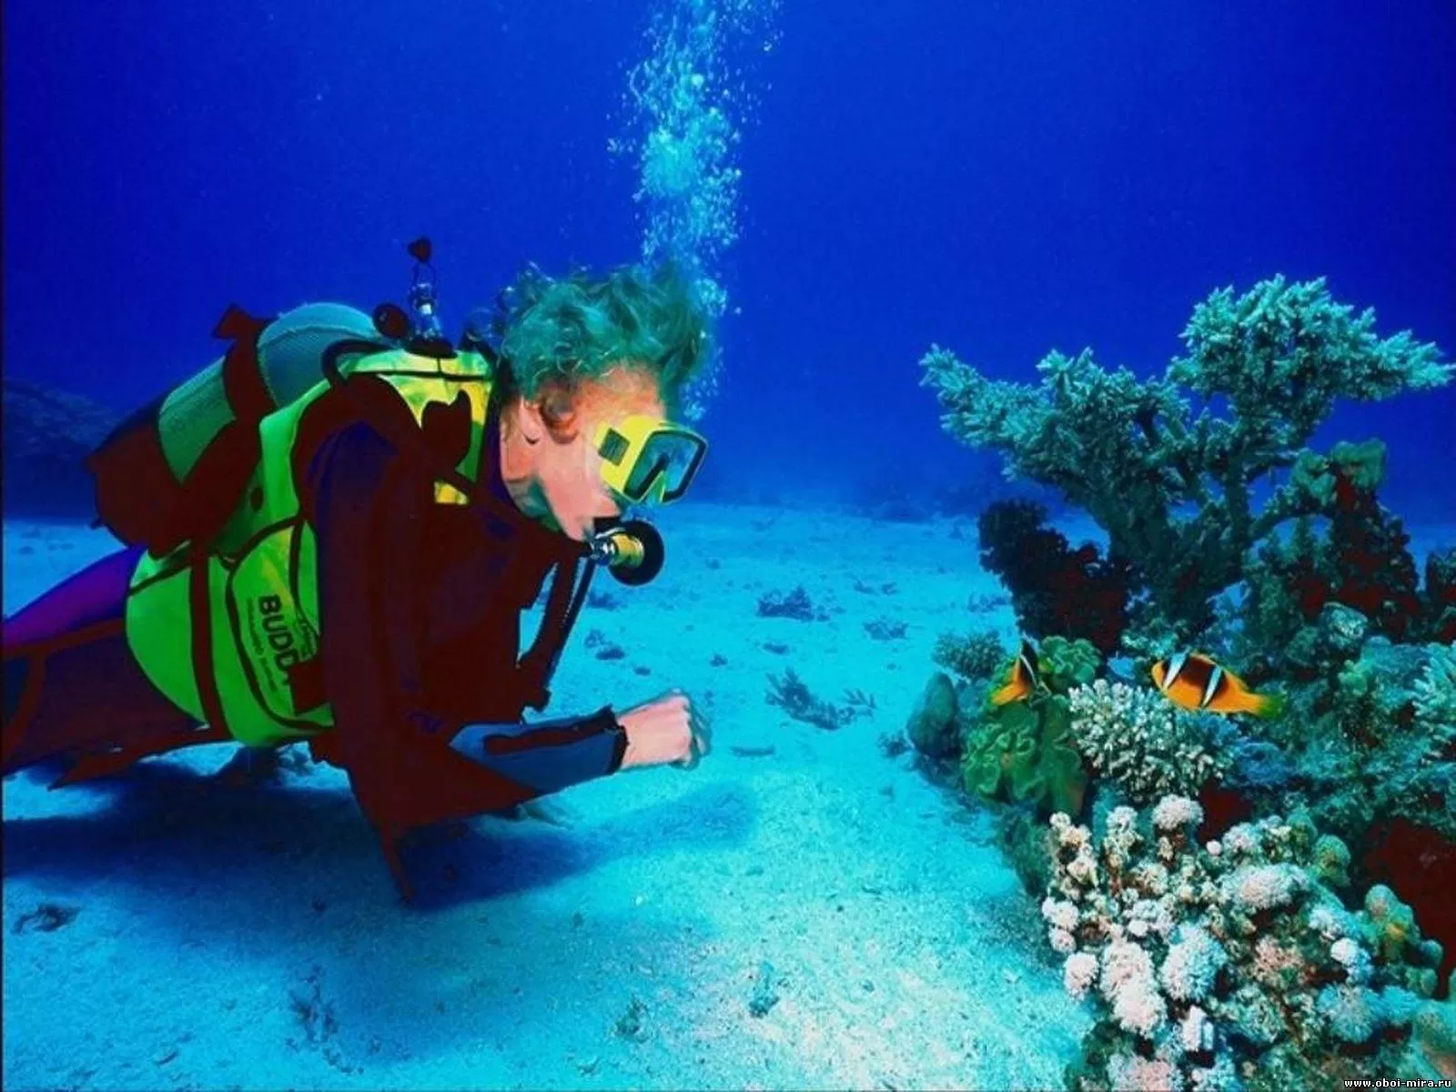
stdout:
<svg viewBox="0 0 1456 1092">
<path fill-rule="evenodd" d="M 6 619 L 3 773 L 67 757 L 57 788 L 199 743 L 306 741 L 409 898 L 412 828 L 708 751 L 676 690 L 524 719 L 594 571 L 636 585 L 662 565 L 623 514 L 702 463 L 674 418 L 703 312 L 671 268 L 531 266 L 451 344 L 430 242 L 409 253 L 408 312 L 230 307 L 226 355 L 92 453 L 93 526 L 127 549 Z"/>
</svg>

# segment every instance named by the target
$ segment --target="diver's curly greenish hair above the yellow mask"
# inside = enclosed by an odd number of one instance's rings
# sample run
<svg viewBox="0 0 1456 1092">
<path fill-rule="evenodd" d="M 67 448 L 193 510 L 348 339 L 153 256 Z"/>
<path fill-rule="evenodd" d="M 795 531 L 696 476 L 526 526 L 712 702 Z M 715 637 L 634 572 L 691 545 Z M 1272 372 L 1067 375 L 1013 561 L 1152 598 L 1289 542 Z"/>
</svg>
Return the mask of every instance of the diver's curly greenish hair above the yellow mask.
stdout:
<svg viewBox="0 0 1456 1092">
<path fill-rule="evenodd" d="M 630 361 L 657 379 L 670 411 L 708 361 L 712 336 L 706 310 L 673 265 L 623 265 L 604 278 L 579 268 L 552 278 L 530 265 L 496 297 L 491 332 L 496 381 L 508 393 L 572 390 Z"/>
</svg>

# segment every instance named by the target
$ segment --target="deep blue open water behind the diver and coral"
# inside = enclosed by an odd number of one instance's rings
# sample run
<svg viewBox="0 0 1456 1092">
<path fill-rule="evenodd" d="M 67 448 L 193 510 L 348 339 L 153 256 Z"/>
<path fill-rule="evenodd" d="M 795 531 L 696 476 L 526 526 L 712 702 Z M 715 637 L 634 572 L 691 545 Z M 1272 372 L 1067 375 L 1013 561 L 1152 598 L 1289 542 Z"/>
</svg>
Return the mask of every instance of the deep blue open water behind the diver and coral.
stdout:
<svg viewBox="0 0 1456 1092">
<path fill-rule="evenodd" d="M 211 358 L 229 301 L 397 298 L 418 233 L 453 322 L 526 261 L 632 259 L 606 149 L 648 10 L 7 4 L 6 367 L 127 409 Z M 1207 291 L 1274 272 L 1456 352 L 1447 0 L 788 0 L 738 45 L 760 102 L 705 495 L 974 480 L 994 463 L 917 386 L 932 342 L 1147 374 Z M 1386 499 L 1449 517 L 1452 422 L 1446 390 L 1321 440 L 1385 437 Z"/>
</svg>

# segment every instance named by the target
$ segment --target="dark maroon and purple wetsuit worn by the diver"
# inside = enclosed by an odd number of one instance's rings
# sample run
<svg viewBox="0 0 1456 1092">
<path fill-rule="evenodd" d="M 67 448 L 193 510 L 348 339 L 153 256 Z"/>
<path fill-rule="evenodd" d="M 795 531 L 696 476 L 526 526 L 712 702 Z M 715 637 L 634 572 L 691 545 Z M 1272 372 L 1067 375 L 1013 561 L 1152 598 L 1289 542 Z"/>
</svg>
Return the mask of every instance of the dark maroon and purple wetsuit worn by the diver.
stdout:
<svg viewBox="0 0 1456 1092">
<path fill-rule="evenodd" d="M 480 480 L 496 518 L 435 504 L 432 476 L 363 421 L 317 440 L 298 482 L 317 536 L 320 684 L 335 725 L 310 745 L 348 772 L 402 885 L 396 843 L 411 827 L 612 773 L 626 748 L 610 709 L 521 719 L 546 700 L 577 565 L 563 561 L 562 536 L 511 505 L 494 457 L 494 415 L 483 443 L 491 457 Z M 111 772 L 226 738 L 198 734 L 127 646 L 127 578 L 137 556 L 111 555 L 6 620 L 6 773 L 60 753 L 92 753 L 96 769 Z M 559 565 L 568 572 L 552 585 L 550 632 L 518 658 L 521 612 Z"/>
</svg>

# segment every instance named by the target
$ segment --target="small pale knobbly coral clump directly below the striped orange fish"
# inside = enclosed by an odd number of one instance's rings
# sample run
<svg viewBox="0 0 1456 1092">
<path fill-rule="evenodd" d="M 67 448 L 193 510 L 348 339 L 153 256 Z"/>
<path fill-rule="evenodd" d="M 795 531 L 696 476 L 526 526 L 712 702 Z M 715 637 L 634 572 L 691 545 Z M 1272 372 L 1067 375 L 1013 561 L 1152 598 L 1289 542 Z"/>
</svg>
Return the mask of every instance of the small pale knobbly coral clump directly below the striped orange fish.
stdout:
<svg viewBox="0 0 1456 1092">
<path fill-rule="evenodd" d="M 1156 690 L 1098 678 L 1067 700 L 1073 744 L 1133 804 L 1195 796 L 1229 769 L 1210 738 L 1210 718 L 1178 709 Z"/>
</svg>

